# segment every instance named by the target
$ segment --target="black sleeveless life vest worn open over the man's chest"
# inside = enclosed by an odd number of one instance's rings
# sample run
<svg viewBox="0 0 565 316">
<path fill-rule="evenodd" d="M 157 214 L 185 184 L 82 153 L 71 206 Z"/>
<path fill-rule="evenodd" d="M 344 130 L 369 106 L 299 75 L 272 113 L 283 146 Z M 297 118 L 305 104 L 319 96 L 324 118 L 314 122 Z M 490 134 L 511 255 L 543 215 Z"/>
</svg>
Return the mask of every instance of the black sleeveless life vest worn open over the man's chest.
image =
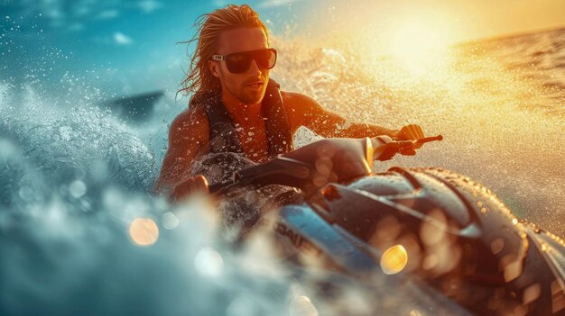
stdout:
<svg viewBox="0 0 565 316">
<path fill-rule="evenodd" d="M 218 93 L 193 97 L 190 106 L 199 106 L 208 115 L 210 126 L 208 153 L 233 152 L 245 156 L 241 140 L 237 137 L 236 126 L 227 113 L 226 106 Z M 261 114 L 264 118 L 269 146 L 267 157 L 275 158 L 292 150 L 291 126 L 286 115 L 280 85 L 269 79 Z"/>
</svg>

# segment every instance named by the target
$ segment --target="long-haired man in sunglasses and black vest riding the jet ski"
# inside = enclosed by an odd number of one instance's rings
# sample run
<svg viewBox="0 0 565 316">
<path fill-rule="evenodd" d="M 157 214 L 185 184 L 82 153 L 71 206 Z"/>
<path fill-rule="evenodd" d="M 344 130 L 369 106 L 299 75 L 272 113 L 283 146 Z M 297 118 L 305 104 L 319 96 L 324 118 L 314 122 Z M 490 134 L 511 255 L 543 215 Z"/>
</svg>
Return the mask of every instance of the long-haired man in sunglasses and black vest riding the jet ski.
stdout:
<svg viewBox="0 0 565 316">
<path fill-rule="evenodd" d="M 194 95 L 189 109 L 171 124 L 157 192 L 180 199 L 190 192 L 208 191 L 204 176 L 186 178 L 196 158 L 231 151 L 255 162 L 266 161 L 292 150 L 292 135 L 301 126 L 327 138 L 423 136 L 418 125 L 400 131 L 367 124 L 341 128 L 346 120 L 309 96 L 279 91 L 269 79 L 276 50 L 270 46 L 266 26 L 248 5 L 227 5 L 204 14 L 197 25 L 192 41 L 198 39 L 198 44 L 183 82 L 184 91 Z M 413 150 L 403 154 L 413 155 Z"/>
</svg>

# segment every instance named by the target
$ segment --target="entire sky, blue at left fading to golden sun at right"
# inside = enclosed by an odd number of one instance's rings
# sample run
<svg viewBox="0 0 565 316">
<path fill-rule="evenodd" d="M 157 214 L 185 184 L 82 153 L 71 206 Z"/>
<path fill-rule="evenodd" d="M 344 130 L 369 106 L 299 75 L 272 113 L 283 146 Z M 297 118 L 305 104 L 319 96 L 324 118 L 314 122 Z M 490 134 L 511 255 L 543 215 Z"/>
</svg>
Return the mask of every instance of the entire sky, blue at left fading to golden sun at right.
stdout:
<svg viewBox="0 0 565 316">
<path fill-rule="evenodd" d="M 103 77 L 130 94 L 178 87 L 199 14 L 228 2 L 51 0 L 0 2 L 0 80 L 27 75 Z M 565 26 L 563 0 L 253 0 L 272 32 L 358 32 L 382 47 L 440 44 Z M 7 61 L 7 62 L 4 62 Z M 174 73 L 175 75 L 171 75 Z M 12 79 L 11 79 L 12 78 Z M 29 78 L 29 76 L 28 76 Z M 103 86 L 104 86 L 103 85 Z"/>
</svg>

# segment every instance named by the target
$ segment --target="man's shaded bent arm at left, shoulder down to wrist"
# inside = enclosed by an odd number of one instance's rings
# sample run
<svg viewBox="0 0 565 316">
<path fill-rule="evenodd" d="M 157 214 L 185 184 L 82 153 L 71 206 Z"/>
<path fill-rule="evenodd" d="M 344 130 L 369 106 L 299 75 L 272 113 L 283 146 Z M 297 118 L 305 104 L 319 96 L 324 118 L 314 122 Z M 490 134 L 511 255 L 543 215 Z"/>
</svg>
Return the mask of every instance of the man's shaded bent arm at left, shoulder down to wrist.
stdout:
<svg viewBox="0 0 565 316">
<path fill-rule="evenodd" d="M 208 144 L 209 122 L 204 111 L 195 107 L 179 114 L 169 130 L 169 149 L 162 162 L 161 175 L 155 182 L 154 191 L 171 190 L 186 175 L 194 158 Z"/>
</svg>

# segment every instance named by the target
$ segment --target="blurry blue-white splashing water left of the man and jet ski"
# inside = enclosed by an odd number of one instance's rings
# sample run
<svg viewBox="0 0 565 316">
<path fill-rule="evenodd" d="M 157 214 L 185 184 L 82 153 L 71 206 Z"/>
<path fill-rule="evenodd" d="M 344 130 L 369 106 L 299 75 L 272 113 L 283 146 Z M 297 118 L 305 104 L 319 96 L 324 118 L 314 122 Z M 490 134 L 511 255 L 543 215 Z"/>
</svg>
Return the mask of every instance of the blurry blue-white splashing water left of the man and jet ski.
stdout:
<svg viewBox="0 0 565 316">
<path fill-rule="evenodd" d="M 226 226 L 207 200 L 172 207 L 147 194 L 153 153 L 122 122 L 85 103 L 25 98 L 0 107 L 3 315 L 338 315 L 354 301 L 359 312 L 459 311 L 414 284 L 381 279 L 360 285 L 330 275 L 341 290 L 328 298 L 329 276 L 299 283 L 302 273 L 282 266 L 266 236 L 239 251 L 218 239 Z M 410 307 L 393 288 L 412 297 Z"/>
</svg>

